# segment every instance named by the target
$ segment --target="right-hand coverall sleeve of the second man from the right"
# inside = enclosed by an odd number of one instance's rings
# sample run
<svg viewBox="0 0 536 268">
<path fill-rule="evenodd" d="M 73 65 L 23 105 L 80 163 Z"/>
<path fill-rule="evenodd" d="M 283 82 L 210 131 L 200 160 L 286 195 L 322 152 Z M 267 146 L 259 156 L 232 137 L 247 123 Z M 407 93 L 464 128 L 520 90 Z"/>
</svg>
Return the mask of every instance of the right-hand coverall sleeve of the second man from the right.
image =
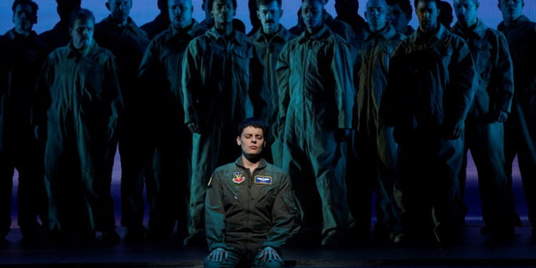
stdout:
<svg viewBox="0 0 536 268">
<path fill-rule="evenodd" d="M 512 98 L 514 96 L 514 66 L 508 50 L 506 38 L 497 32 L 498 46 L 495 69 L 490 74 L 494 85 L 497 86 L 497 105 L 495 109 L 510 113 Z"/>
</svg>

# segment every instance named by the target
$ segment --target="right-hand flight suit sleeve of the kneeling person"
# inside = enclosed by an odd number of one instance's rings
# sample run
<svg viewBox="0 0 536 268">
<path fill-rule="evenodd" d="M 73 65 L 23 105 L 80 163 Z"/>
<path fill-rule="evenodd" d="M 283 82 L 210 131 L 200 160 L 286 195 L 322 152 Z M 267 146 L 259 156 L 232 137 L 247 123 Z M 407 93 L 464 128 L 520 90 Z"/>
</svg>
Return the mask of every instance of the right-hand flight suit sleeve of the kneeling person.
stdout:
<svg viewBox="0 0 536 268">
<path fill-rule="evenodd" d="M 262 247 L 279 249 L 290 234 L 292 223 L 296 214 L 292 186 L 287 174 L 281 177 L 281 189 L 275 197 L 272 207 L 272 229 L 267 233 L 267 240 Z"/>
</svg>

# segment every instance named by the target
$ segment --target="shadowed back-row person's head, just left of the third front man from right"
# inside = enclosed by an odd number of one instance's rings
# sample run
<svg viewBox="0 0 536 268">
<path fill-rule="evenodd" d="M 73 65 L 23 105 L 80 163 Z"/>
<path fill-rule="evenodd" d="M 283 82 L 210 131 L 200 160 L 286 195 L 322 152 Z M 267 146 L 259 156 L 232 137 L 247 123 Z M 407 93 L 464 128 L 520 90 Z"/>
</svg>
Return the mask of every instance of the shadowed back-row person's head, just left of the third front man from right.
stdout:
<svg viewBox="0 0 536 268">
<path fill-rule="evenodd" d="M 389 24 L 399 34 L 410 36 L 415 29 L 409 25 L 412 20 L 412 4 L 410 0 L 387 0 L 389 5 Z"/>
</svg>

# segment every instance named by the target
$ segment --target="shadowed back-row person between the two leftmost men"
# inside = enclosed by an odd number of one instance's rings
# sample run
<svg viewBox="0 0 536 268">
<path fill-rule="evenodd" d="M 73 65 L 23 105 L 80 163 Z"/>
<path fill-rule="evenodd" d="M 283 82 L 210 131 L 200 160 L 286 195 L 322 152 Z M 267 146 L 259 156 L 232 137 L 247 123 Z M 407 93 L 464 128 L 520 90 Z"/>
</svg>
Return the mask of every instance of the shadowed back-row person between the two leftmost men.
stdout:
<svg viewBox="0 0 536 268">
<path fill-rule="evenodd" d="M 39 36 L 49 45 L 51 50 L 66 46 L 71 41 L 69 31 L 69 19 L 71 12 L 80 9 L 81 0 L 56 0 L 58 4 L 59 22 L 49 31 L 44 31 Z"/>
</svg>

